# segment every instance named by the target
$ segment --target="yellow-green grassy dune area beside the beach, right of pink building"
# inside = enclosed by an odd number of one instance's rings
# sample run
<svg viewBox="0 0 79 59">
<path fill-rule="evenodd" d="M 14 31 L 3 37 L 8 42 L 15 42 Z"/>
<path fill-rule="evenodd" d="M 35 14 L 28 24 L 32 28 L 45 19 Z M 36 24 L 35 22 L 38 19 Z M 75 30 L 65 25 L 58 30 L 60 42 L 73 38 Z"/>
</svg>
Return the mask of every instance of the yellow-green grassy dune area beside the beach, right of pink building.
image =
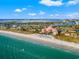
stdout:
<svg viewBox="0 0 79 59">
<path fill-rule="evenodd" d="M 79 43 L 79 38 L 69 37 L 69 36 L 65 36 L 63 34 L 56 36 L 56 38 L 59 40 L 64 40 L 64 41 L 68 41 L 68 42 Z"/>
</svg>

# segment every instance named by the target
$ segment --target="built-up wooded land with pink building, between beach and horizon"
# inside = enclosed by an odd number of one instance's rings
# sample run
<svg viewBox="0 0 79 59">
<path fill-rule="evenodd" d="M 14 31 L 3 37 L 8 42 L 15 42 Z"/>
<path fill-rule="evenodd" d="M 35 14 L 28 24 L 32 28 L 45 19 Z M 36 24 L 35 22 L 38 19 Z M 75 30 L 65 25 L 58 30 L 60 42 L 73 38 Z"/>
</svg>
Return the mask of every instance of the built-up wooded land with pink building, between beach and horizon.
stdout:
<svg viewBox="0 0 79 59">
<path fill-rule="evenodd" d="M 64 20 L 61 22 L 48 21 L 4 21 L 0 22 L 0 29 L 24 33 L 64 34 L 65 36 L 78 37 L 79 21 Z"/>
</svg>

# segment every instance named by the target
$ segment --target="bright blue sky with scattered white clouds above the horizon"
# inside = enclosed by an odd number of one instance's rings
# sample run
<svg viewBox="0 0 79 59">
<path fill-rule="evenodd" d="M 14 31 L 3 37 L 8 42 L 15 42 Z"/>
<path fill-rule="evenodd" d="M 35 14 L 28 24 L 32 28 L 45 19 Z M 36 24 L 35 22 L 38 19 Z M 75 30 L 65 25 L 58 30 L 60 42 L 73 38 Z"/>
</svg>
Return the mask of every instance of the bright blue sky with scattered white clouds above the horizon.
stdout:
<svg viewBox="0 0 79 59">
<path fill-rule="evenodd" d="M 79 0 L 0 0 L 0 19 L 79 19 Z"/>
</svg>

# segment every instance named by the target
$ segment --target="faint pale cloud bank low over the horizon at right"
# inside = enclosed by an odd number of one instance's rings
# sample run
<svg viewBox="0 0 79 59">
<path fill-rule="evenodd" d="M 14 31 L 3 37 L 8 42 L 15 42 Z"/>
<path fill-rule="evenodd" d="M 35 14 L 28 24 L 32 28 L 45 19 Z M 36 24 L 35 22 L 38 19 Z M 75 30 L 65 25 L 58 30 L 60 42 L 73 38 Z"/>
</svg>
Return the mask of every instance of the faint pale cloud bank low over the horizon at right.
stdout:
<svg viewBox="0 0 79 59">
<path fill-rule="evenodd" d="M 79 19 L 79 13 L 73 12 L 68 14 L 51 14 L 52 18 Z"/>
</svg>

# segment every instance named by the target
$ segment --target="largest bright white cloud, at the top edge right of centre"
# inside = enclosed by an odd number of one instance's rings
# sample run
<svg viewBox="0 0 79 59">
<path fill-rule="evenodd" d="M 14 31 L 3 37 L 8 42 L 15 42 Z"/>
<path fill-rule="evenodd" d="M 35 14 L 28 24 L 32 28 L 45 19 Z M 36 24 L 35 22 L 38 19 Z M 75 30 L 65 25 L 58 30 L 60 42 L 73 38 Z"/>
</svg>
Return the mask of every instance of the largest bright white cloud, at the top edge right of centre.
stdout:
<svg viewBox="0 0 79 59">
<path fill-rule="evenodd" d="M 61 0 L 59 0 L 59 1 L 41 0 L 39 3 L 46 5 L 46 6 L 61 6 L 61 5 L 63 5 Z"/>
</svg>

